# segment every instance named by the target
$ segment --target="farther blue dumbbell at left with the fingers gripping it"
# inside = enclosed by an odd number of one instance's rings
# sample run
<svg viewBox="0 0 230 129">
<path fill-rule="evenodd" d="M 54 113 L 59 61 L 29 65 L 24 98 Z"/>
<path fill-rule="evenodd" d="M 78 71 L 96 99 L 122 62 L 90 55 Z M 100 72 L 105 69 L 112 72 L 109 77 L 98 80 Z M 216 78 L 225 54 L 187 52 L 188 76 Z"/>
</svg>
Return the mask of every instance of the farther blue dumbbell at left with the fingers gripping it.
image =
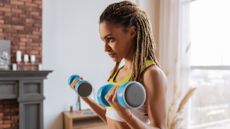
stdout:
<svg viewBox="0 0 230 129">
<path fill-rule="evenodd" d="M 75 80 L 77 81 L 76 84 L 73 83 Z M 93 89 L 92 85 L 88 81 L 83 80 L 79 75 L 71 75 L 69 77 L 69 85 L 81 97 L 89 96 Z"/>
</svg>

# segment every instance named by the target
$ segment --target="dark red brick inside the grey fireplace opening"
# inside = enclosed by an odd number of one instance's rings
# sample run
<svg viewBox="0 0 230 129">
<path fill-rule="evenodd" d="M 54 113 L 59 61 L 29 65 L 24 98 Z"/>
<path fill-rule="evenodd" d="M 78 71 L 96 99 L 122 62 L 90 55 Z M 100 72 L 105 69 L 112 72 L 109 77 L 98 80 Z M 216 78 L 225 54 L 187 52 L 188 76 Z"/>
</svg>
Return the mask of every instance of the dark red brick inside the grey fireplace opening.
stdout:
<svg viewBox="0 0 230 129">
<path fill-rule="evenodd" d="M 0 100 L 0 129 L 18 129 L 19 113 L 16 99 Z"/>
</svg>

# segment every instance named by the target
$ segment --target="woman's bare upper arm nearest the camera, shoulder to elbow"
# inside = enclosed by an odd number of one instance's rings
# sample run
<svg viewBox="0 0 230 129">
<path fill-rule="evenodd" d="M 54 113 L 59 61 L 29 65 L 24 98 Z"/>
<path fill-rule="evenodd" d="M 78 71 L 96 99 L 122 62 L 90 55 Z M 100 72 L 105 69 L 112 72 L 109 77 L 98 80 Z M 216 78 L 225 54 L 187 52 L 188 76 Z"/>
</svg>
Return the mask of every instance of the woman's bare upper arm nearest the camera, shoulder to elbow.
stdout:
<svg viewBox="0 0 230 129">
<path fill-rule="evenodd" d="M 166 128 L 166 77 L 156 66 L 150 67 L 143 75 L 147 94 L 147 112 L 151 125 Z"/>
</svg>

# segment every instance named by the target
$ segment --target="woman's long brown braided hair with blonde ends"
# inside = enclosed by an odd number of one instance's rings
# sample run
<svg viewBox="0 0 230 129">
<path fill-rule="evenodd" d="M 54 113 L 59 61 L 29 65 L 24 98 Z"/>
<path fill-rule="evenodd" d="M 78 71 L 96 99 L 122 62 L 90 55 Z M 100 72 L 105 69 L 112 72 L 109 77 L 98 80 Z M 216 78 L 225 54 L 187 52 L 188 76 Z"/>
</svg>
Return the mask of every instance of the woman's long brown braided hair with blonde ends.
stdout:
<svg viewBox="0 0 230 129">
<path fill-rule="evenodd" d="M 120 24 L 124 28 L 135 26 L 137 31 L 135 53 L 133 56 L 133 70 L 130 80 L 140 81 L 141 68 L 145 66 L 146 60 L 153 60 L 158 66 L 155 57 L 155 42 L 153 40 L 152 28 L 144 11 L 130 1 L 122 1 L 109 5 L 100 16 L 100 23 L 111 22 Z M 109 79 L 118 70 L 120 62 L 117 62 Z M 109 80 L 108 79 L 108 80 Z"/>
</svg>

